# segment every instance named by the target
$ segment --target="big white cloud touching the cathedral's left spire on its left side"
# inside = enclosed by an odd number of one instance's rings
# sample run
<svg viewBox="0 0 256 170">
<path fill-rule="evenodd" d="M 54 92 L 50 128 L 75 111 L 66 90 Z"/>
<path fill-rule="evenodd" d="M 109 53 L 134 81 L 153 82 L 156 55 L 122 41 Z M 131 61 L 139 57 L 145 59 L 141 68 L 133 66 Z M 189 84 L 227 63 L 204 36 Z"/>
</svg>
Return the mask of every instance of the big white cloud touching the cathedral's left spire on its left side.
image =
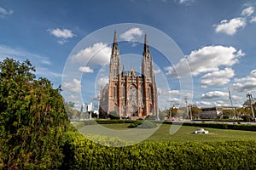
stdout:
<svg viewBox="0 0 256 170">
<path fill-rule="evenodd" d="M 111 48 L 108 44 L 97 42 L 89 48 L 84 48 L 71 59 L 75 62 L 92 65 L 105 65 L 110 60 Z"/>
</svg>

